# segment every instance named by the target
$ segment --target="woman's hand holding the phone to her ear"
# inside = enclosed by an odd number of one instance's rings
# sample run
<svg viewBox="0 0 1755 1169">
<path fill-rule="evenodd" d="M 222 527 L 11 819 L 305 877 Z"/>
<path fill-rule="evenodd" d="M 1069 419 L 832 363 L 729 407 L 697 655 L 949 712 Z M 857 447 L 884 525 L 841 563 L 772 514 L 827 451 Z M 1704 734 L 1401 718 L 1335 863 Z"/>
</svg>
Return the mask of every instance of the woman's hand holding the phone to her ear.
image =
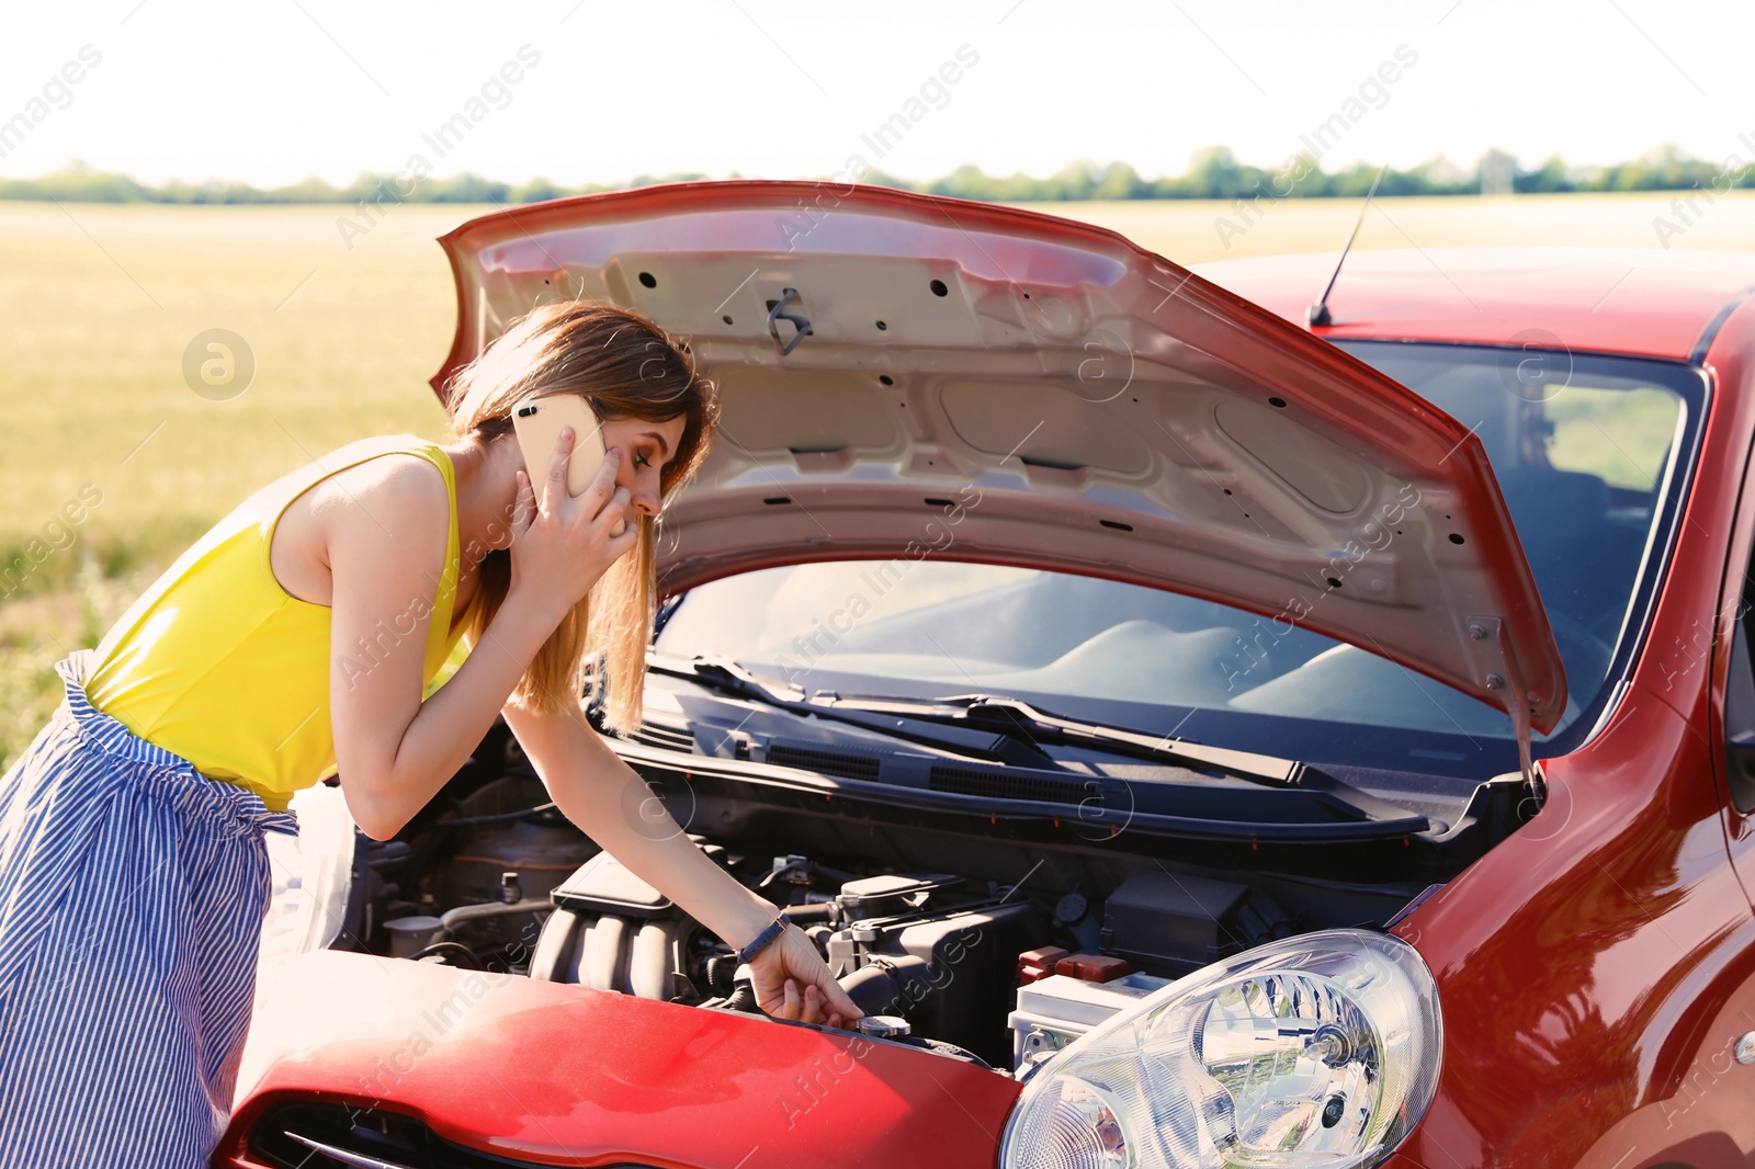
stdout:
<svg viewBox="0 0 1755 1169">
<path fill-rule="evenodd" d="M 567 458 L 574 448 L 572 427 L 560 432 L 541 490 L 518 472 L 518 504 L 512 514 L 512 579 L 507 600 L 534 606 L 560 625 L 620 556 L 639 542 L 639 525 L 611 535 L 628 506 L 627 488 L 616 486 L 621 451 L 604 456 L 597 476 L 579 495 L 567 493 Z"/>
</svg>

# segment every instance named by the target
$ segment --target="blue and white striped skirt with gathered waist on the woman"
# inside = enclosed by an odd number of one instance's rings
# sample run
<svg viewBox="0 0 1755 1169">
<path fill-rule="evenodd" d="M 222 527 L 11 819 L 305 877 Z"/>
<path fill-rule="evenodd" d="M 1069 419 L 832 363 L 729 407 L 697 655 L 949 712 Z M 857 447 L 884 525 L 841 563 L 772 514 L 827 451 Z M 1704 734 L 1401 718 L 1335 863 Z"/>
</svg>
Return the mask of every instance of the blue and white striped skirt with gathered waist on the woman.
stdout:
<svg viewBox="0 0 1755 1169">
<path fill-rule="evenodd" d="M 207 1164 L 237 1081 L 269 907 L 263 832 L 297 832 L 86 700 L 0 779 L 0 1169 Z"/>
</svg>

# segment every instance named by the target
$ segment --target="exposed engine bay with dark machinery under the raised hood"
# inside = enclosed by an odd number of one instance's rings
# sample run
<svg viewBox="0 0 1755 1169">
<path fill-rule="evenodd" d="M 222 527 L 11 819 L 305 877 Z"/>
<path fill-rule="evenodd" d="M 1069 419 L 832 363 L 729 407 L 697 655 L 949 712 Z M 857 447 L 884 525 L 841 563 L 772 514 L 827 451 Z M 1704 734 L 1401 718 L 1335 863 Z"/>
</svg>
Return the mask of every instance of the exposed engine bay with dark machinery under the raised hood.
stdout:
<svg viewBox="0 0 1755 1169">
<path fill-rule="evenodd" d="M 711 785 L 667 802 L 885 1037 L 1000 1071 L 1243 950 L 1381 925 L 1429 885 L 1214 869 L 1146 837 L 1025 846 Z M 758 1013 L 735 951 L 569 823 L 504 727 L 397 839 L 358 837 L 346 916 L 339 948 Z"/>
</svg>

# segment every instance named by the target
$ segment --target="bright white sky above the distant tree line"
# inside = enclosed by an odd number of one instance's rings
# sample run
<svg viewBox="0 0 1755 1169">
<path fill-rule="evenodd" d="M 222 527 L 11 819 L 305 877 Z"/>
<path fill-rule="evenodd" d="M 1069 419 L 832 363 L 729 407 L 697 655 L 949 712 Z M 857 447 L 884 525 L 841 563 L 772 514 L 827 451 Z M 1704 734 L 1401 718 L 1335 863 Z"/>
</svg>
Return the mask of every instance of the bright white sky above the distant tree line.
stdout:
<svg viewBox="0 0 1755 1169">
<path fill-rule="evenodd" d="M 1157 177 L 1207 146 L 1278 165 L 1334 116 L 1329 170 L 1755 142 L 1748 0 L 116 0 L 14 9 L 7 33 L 7 177 L 81 160 L 340 184 L 419 158 L 621 183 L 825 177 L 853 156 L 907 179 L 1079 158 Z"/>
</svg>

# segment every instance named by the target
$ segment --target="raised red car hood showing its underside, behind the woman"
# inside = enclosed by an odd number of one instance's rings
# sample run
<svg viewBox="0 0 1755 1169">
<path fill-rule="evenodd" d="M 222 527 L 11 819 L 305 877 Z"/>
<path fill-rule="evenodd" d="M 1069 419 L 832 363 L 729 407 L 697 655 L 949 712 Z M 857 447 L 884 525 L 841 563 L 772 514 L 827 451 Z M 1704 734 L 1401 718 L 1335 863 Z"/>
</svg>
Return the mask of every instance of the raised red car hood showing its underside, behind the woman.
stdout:
<svg viewBox="0 0 1755 1169">
<path fill-rule="evenodd" d="M 718 381 L 720 441 L 667 506 L 670 592 L 806 560 L 1083 572 L 1351 642 L 1525 730 L 1565 709 L 1479 441 L 1114 232 L 730 181 L 507 209 L 441 242 L 458 290 L 441 393 L 570 297 L 646 312 Z"/>
</svg>

